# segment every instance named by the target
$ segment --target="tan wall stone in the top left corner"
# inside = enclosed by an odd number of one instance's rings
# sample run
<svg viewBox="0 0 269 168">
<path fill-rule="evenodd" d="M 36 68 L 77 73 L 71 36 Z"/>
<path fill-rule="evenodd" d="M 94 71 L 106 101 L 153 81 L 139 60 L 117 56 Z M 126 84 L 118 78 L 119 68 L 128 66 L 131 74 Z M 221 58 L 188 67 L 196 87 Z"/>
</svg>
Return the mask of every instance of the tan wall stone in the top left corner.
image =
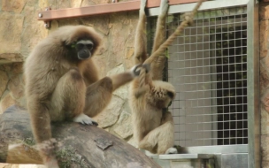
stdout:
<svg viewBox="0 0 269 168">
<path fill-rule="evenodd" d="M 12 11 L 20 13 L 26 4 L 27 0 L 3 0 L 2 1 L 2 10 L 3 11 Z"/>
</svg>

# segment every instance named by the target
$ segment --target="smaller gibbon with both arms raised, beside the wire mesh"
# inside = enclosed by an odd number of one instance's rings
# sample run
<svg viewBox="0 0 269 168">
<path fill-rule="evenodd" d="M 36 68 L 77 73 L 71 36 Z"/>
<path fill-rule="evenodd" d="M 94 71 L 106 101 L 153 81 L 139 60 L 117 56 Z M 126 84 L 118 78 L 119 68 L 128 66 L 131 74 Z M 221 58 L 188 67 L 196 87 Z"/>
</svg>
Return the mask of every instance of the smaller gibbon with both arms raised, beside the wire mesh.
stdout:
<svg viewBox="0 0 269 168">
<path fill-rule="evenodd" d="M 146 51 L 146 0 L 141 1 L 139 20 L 135 34 L 135 64 L 142 64 L 148 57 Z M 165 42 L 165 17 L 168 11 L 167 0 L 161 0 L 152 53 Z M 146 74 L 145 94 L 136 96 L 139 80 L 135 79 L 130 88 L 129 103 L 132 109 L 134 136 L 138 148 L 154 154 L 177 153 L 173 147 L 173 117 L 166 111 L 175 96 L 173 85 L 162 81 L 165 67 L 165 53 L 156 57 Z"/>
</svg>

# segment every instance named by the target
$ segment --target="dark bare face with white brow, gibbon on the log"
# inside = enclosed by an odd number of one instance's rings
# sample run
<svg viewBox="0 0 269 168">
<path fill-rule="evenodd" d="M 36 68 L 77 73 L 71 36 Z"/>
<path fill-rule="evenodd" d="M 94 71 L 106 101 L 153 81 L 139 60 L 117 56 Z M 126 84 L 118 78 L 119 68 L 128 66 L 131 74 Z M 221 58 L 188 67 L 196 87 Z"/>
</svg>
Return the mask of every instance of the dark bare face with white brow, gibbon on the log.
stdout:
<svg viewBox="0 0 269 168">
<path fill-rule="evenodd" d="M 76 52 L 77 58 L 80 60 L 88 59 L 92 56 L 94 42 L 91 40 L 80 40 L 72 46 Z"/>
</svg>

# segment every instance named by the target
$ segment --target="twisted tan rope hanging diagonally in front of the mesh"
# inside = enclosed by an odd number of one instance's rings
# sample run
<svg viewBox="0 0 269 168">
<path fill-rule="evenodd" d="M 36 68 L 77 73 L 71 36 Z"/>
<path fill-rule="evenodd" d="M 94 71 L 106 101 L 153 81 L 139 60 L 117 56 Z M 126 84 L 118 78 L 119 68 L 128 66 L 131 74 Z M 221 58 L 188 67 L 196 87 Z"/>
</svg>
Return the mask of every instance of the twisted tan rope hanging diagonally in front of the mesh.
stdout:
<svg viewBox="0 0 269 168">
<path fill-rule="evenodd" d="M 177 27 L 177 29 L 173 32 L 173 34 L 171 34 L 168 39 L 158 48 L 158 50 L 156 50 L 154 53 L 151 54 L 150 57 L 148 57 L 143 65 L 146 64 L 151 64 L 154 60 L 155 57 L 158 57 L 160 55 L 163 55 L 163 53 L 165 52 L 165 50 L 167 49 L 167 47 L 169 45 L 172 44 L 172 42 L 174 41 L 174 39 L 181 34 L 182 30 L 185 27 L 188 27 L 189 25 L 191 25 L 193 23 L 193 19 L 194 16 L 196 14 L 196 12 L 198 11 L 198 9 L 200 8 L 201 4 L 204 2 L 205 0 L 199 0 L 199 2 L 196 4 L 195 8 L 193 9 L 193 11 L 187 12 L 184 14 L 184 20 L 181 22 L 181 25 L 179 27 Z M 135 92 L 135 96 L 139 97 L 140 95 L 144 94 L 145 91 L 147 90 L 146 86 L 145 86 L 145 79 L 146 78 L 146 69 L 142 68 L 140 75 L 139 75 L 139 88 L 136 90 Z"/>
</svg>

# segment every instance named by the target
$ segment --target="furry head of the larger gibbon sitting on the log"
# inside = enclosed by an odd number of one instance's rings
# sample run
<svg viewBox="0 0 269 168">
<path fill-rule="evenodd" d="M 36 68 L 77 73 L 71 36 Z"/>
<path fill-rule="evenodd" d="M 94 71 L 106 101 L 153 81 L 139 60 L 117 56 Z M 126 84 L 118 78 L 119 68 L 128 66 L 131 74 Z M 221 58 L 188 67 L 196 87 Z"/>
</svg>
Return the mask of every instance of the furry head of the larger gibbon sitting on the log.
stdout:
<svg viewBox="0 0 269 168">
<path fill-rule="evenodd" d="M 68 57 L 73 60 L 88 59 L 96 53 L 101 44 L 101 35 L 93 27 L 65 26 L 53 33 L 59 35 L 68 50 Z"/>
</svg>

